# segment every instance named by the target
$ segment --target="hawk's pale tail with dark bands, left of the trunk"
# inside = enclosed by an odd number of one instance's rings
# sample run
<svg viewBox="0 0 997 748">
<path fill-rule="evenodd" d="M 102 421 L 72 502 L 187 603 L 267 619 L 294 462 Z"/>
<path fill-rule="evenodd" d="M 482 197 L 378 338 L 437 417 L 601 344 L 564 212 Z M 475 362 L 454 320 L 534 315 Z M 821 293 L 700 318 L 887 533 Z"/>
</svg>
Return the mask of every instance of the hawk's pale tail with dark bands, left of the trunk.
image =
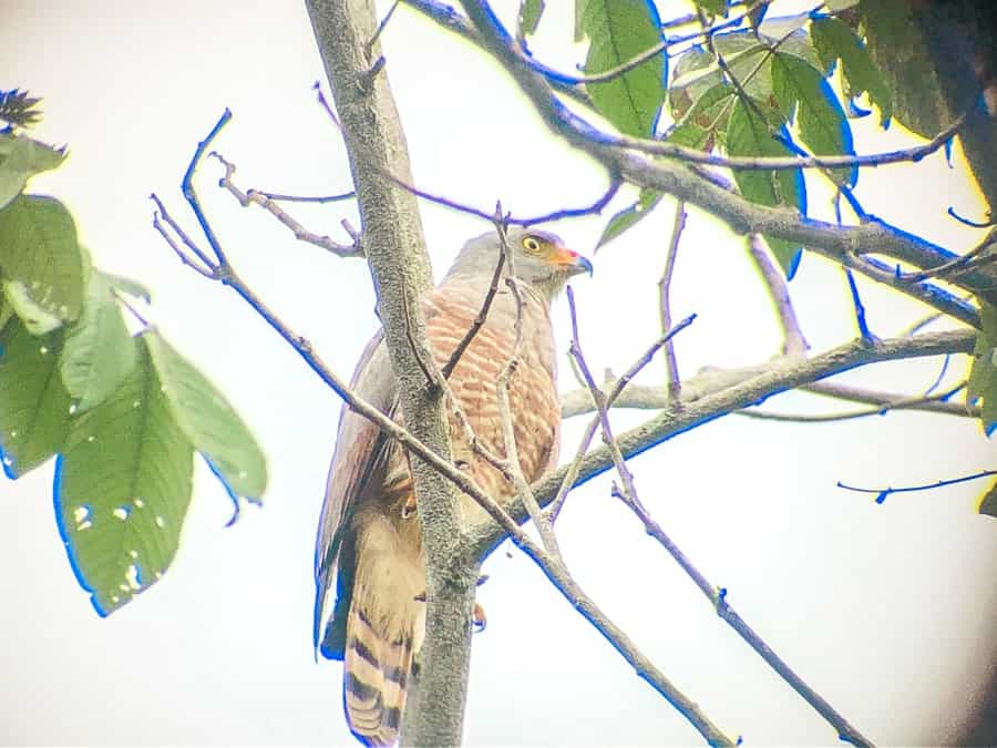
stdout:
<svg viewBox="0 0 997 748">
<path fill-rule="evenodd" d="M 368 746 L 398 740 L 405 686 L 412 667 L 412 635 L 379 631 L 383 618 L 366 609 L 369 596 L 353 595 L 347 619 L 342 698 L 350 730 Z"/>
</svg>

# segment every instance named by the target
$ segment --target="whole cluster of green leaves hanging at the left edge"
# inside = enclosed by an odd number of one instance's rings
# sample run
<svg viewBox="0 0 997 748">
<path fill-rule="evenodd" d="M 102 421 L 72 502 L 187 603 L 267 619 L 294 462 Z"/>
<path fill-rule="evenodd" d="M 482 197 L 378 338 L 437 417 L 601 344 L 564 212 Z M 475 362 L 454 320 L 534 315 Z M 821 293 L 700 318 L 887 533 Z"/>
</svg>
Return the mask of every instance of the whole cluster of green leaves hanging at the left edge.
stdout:
<svg viewBox="0 0 997 748">
<path fill-rule="evenodd" d="M 267 472 L 208 379 L 137 314 L 130 331 L 122 305 L 148 291 L 92 266 L 60 201 L 24 194 L 64 158 L 14 127 L 0 133 L 0 460 L 17 479 L 56 457 L 60 534 L 106 615 L 176 554 L 195 452 L 237 508 L 263 494 Z"/>
</svg>

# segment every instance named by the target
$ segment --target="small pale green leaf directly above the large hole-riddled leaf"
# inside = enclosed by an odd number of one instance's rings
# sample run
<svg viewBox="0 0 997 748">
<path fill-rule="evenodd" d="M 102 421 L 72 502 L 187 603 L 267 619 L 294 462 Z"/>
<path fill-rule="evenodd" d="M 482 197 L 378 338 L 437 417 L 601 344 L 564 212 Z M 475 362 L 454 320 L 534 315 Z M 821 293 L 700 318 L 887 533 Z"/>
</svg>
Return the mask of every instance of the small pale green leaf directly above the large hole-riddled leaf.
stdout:
<svg viewBox="0 0 997 748">
<path fill-rule="evenodd" d="M 94 273 L 83 314 L 66 330 L 60 371 L 80 411 L 106 399 L 135 365 L 135 340 L 129 334 L 107 279 Z"/>
</svg>

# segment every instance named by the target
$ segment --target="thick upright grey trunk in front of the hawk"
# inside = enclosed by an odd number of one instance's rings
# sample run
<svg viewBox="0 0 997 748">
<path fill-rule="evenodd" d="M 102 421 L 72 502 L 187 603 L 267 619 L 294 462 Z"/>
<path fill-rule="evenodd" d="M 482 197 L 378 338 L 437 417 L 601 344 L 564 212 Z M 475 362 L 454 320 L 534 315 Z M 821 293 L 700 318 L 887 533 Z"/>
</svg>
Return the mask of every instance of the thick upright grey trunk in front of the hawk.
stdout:
<svg viewBox="0 0 997 748">
<path fill-rule="evenodd" d="M 306 4 L 349 152 L 363 249 L 404 422 L 413 436 L 449 459 L 441 390 L 426 387 L 419 366 L 420 360 L 432 359 L 421 305 L 432 273 L 419 207 L 411 193 L 383 176 L 412 181 L 380 43 L 370 43 L 378 29 L 374 3 L 306 0 Z M 426 637 L 420 683 L 405 709 L 402 732 L 413 745 L 456 745 L 463 729 L 477 570 L 463 563 L 458 493 L 418 457 L 411 465 L 426 562 Z M 420 708 L 423 704 L 432 708 Z"/>
</svg>

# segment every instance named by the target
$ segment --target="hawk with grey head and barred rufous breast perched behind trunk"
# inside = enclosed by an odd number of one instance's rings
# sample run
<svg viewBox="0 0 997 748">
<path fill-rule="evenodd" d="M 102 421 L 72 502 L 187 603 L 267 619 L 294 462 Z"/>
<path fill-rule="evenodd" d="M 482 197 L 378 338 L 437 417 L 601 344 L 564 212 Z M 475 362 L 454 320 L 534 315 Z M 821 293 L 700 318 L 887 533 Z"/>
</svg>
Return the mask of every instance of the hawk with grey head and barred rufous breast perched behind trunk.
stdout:
<svg viewBox="0 0 997 748">
<path fill-rule="evenodd" d="M 506 246 L 522 308 L 506 283 L 510 263 L 502 240 L 492 232 L 464 245 L 446 277 L 424 299 L 423 310 L 433 357 L 443 369 L 481 314 L 503 263 L 484 324 L 448 382 L 480 444 L 504 458 L 497 379 L 513 353 L 516 318 L 522 315 L 518 363 L 510 378 L 510 414 L 520 465 L 532 482 L 557 461 L 561 407 L 551 303 L 571 276 L 592 273 L 592 264 L 545 232 L 510 230 Z M 401 421 L 383 332 L 368 344 L 351 388 Z M 496 501 L 512 498 L 512 484 L 473 451 L 453 409 L 448 409 L 454 463 Z M 465 522 L 484 516 L 466 495 L 462 511 Z M 398 738 L 412 657 L 425 629 L 422 537 L 404 450 L 346 406 L 315 560 L 315 644 L 326 657 L 343 660 L 350 730 L 366 745 L 391 745 Z"/>
</svg>

